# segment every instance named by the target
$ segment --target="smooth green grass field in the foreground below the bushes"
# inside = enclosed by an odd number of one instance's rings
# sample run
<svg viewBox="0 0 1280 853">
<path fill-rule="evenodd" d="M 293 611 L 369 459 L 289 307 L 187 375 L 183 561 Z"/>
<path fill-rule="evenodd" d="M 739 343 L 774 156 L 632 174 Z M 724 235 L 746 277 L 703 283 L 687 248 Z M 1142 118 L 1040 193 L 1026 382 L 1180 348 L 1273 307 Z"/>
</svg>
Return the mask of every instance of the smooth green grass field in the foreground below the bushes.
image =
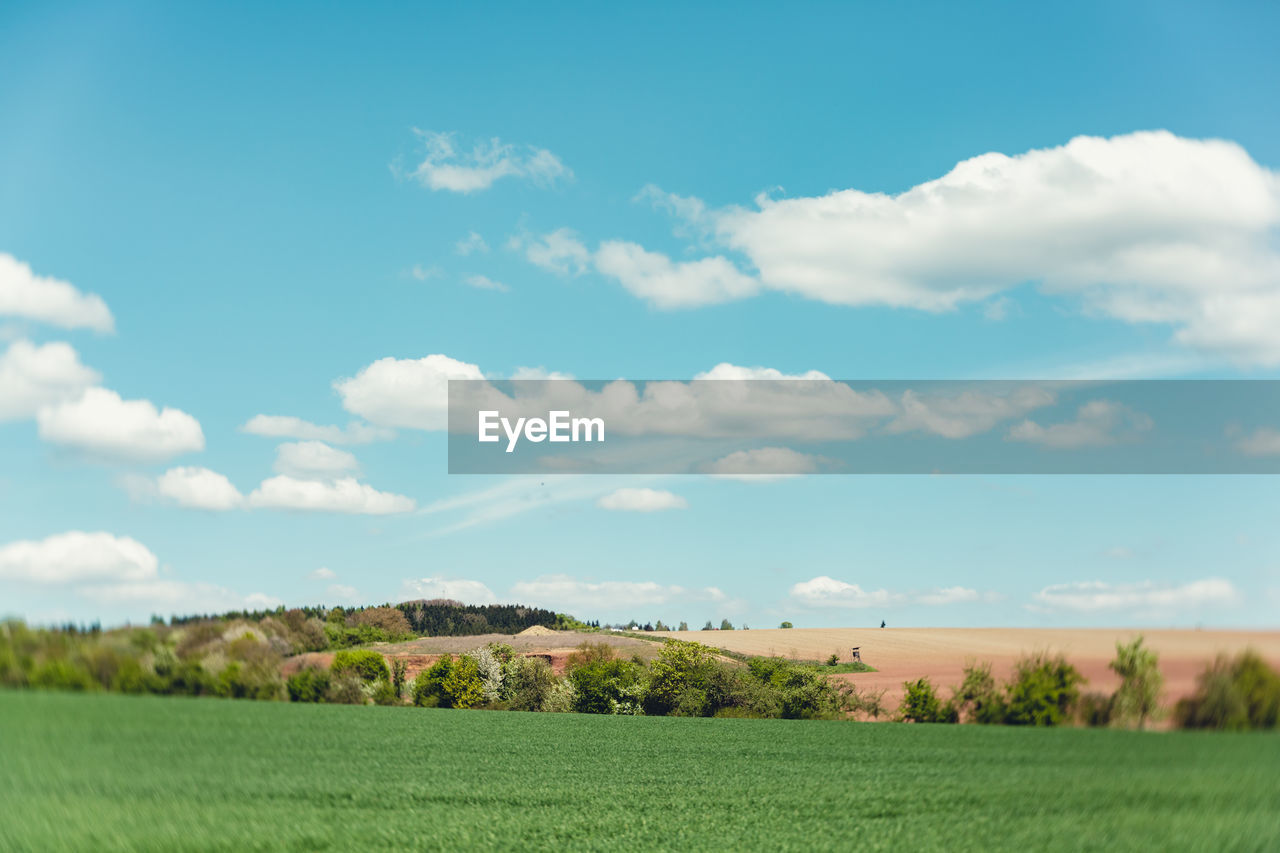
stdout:
<svg viewBox="0 0 1280 853">
<path fill-rule="evenodd" d="M 1280 735 L 0 690 L 0 849 L 1280 849 Z"/>
</svg>

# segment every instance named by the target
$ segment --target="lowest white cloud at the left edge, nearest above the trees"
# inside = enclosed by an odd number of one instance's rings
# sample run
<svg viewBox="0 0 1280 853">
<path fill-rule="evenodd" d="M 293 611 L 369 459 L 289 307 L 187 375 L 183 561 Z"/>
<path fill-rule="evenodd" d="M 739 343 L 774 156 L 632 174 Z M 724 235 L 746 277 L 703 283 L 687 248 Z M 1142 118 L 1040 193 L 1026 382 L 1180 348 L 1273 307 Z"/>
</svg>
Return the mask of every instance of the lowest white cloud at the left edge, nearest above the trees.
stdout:
<svg viewBox="0 0 1280 853">
<path fill-rule="evenodd" d="M 69 530 L 45 539 L 0 546 L 0 578 L 33 583 L 137 581 L 154 578 L 159 562 L 129 537 Z"/>
</svg>

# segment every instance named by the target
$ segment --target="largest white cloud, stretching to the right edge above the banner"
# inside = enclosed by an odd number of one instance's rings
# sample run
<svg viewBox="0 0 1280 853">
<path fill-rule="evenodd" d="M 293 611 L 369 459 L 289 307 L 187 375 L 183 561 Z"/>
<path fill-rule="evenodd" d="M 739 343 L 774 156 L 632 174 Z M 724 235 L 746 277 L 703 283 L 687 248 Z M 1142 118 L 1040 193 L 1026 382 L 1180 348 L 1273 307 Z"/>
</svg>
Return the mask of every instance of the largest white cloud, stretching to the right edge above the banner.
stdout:
<svg viewBox="0 0 1280 853">
<path fill-rule="evenodd" d="M 760 196 L 712 211 L 672 199 L 763 288 L 945 311 L 1038 282 L 1091 313 L 1170 324 L 1197 350 L 1280 364 L 1280 177 L 1233 142 L 1076 137 L 983 154 L 895 196 Z"/>
</svg>

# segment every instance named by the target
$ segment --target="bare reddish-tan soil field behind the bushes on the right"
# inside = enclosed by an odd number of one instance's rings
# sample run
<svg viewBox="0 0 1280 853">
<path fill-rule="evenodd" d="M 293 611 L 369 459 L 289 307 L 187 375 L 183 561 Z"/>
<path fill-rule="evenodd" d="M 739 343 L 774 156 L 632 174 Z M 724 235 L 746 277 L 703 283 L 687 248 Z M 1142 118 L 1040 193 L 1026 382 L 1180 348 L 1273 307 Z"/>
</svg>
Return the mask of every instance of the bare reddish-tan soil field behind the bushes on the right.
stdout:
<svg viewBox="0 0 1280 853">
<path fill-rule="evenodd" d="M 1272 666 L 1280 666 L 1280 631 L 1053 629 L 1053 628 L 791 628 L 749 631 L 666 631 L 662 637 L 694 640 L 741 654 L 764 654 L 799 660 L 826 660 L 833 652 L 850 661 L 850 648 L 861 648 L 863 661 L 876 672 L 837 675 L 859 689 L 884 689 L 884 699 L 896 708 L 902 681 L 928 676 L 934 685 L 959 684 L 968 661 L 991 661 L 997 679 L 1006 678 L 1014 662 L 1036 651 L 1062 652 L 1088 679 L 1085 690 L 1111 692 L 1119 684 L 1107 663 L 1116 642 L 1137 634 L 1160 654 L 1165 676 L 1162 701 L 1171 706 L 1196 688 L 1196 676 L 1219 653 L 1253 648 Z"/>
</svg>

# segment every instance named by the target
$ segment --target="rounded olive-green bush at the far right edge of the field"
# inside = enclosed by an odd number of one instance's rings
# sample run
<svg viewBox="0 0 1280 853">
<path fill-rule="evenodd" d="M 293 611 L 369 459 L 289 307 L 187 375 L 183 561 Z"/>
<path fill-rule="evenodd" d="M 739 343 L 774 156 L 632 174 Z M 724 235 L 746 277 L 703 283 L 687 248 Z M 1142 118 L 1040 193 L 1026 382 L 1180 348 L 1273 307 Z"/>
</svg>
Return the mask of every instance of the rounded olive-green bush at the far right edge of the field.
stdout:
<svg viewBox="0 0 1280 853">
<path fill-rule="evenodd" d="M 1275 729 L 1280 717 L 1280 675 L 1256 652 L 1220 656 L 1198 679 L 1196 693 L 1174 710 L 1183 729 Z"/>
</svg>

